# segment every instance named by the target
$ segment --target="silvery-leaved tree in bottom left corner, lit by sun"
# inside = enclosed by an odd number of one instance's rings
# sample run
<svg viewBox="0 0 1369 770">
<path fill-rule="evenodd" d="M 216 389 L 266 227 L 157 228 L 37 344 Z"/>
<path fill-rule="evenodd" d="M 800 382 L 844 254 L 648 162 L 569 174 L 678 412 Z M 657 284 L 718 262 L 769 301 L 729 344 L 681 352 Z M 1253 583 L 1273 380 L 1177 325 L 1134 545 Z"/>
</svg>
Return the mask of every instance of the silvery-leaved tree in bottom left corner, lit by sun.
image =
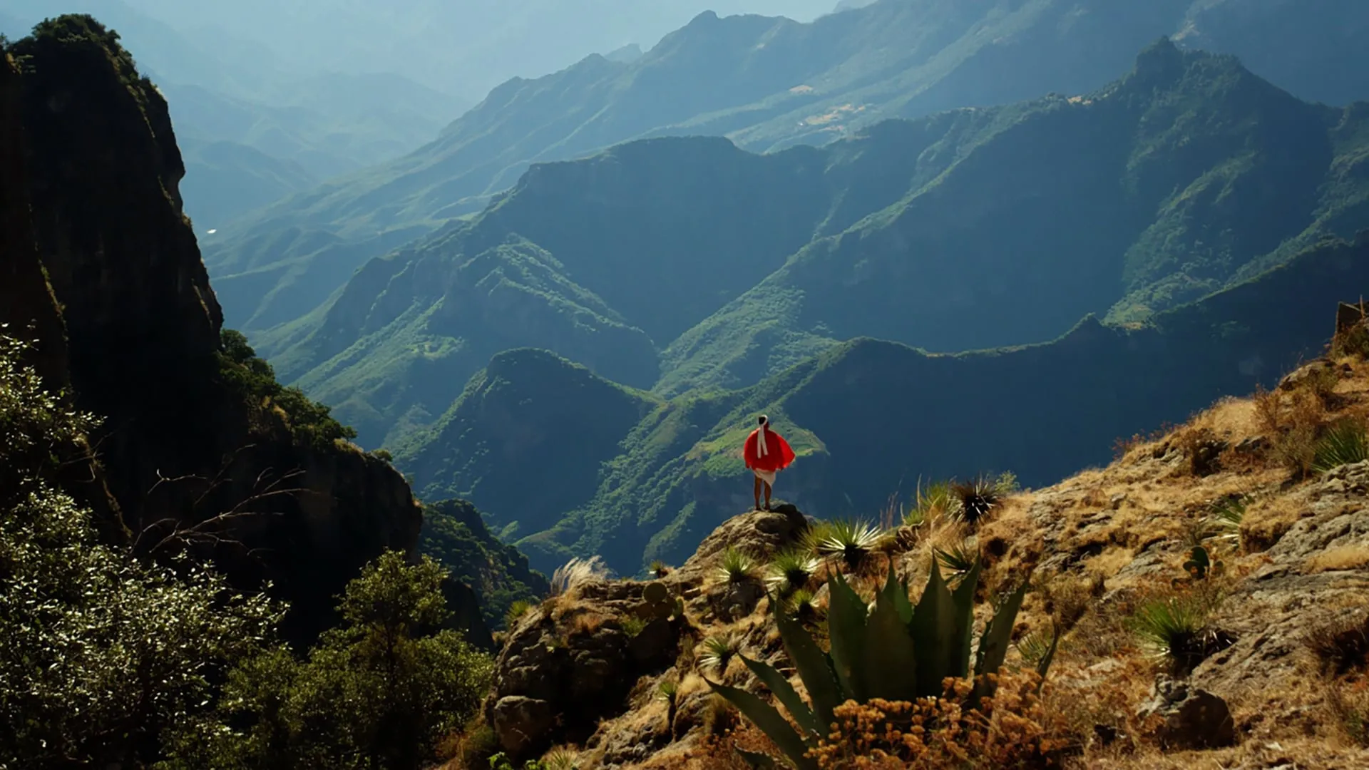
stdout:
<svg viewBox="0 0 1369 770">
<path fill-rule="evenodd" d="M 101 544 L 51 481 L 96 421 L 71 410 L 0 336 L 0 767 L 152 759 L 212 682 L 278 621 L 189 560 Z"/>
</svg>

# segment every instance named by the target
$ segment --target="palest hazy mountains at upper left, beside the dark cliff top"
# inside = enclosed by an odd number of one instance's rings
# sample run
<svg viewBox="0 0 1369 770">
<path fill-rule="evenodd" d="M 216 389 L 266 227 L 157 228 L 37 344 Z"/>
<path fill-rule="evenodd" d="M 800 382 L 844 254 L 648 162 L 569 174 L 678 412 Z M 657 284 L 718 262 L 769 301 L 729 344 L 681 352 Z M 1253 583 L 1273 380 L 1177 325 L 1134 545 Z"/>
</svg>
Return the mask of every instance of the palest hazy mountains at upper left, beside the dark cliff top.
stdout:
<svg viewBox="0 0 1369 770">
<path fill-rule="evenodd" d="M 185 34 L 122 0 L 11 0 L 0 32 L 22 37 L 44 16 L 70 11 L 116 30 L 167 96 L 186 160 L 186 211 L 201 233 L 398 158 L 468 104 L 392 73 L 290 71 L 251 38 L 222 27 Z"/>
</svg>

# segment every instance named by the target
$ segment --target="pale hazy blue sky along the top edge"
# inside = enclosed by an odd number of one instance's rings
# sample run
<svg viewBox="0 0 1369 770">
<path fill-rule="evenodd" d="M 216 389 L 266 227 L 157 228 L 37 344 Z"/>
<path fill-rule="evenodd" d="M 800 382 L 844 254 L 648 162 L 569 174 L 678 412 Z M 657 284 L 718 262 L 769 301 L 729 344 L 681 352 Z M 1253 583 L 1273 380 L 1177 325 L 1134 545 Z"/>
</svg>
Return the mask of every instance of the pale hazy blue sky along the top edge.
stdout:
<svg viewBox="0 0 1369 770">
<path fill-rule="evenodd" d="M 476 101 L 513 75 L 545 75 L 630 42 L 650 48 L 705 10 L 810 21 L 830 12 L 836 0 L 7 0 L 5 5 L 25 21 L 86 11 L 115 22 L 131 7 L 205 53 L 249 67 L 297 75 L 393 71 Z M 125 33 L 130 45 L 148 48 L 130 33 Z M 192 81 L 181 73 L 162 75 Z"/>
</svg>

